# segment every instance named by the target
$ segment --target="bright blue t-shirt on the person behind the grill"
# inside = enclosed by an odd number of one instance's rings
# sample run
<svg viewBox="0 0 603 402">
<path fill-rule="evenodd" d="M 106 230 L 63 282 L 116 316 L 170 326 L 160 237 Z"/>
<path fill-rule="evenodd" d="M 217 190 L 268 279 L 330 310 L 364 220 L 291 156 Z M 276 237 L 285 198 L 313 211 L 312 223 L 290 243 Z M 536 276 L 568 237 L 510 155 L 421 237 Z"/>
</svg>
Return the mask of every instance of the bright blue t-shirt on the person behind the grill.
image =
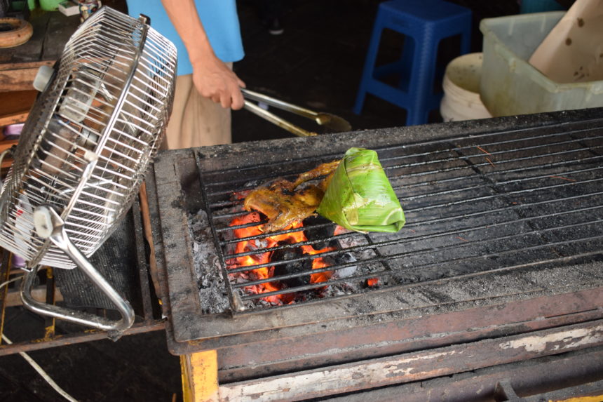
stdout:
<svg viewBox="0 0 603 402">
<path fill-rule="evenodd" d="M 178 75 L 192 74 L 193 67 L 184 43 L 170 22 L 161 0 L 127 0 L 128 13 L 134 18 L 140 14 L 151 18 L 151 27 L 172 41 L 178 50 Z M 236 0 L 195 0 L 199 18 L 208 34 L 214 53 L 223 62 L 236 62 L 243 58 Z"/>
</svg>

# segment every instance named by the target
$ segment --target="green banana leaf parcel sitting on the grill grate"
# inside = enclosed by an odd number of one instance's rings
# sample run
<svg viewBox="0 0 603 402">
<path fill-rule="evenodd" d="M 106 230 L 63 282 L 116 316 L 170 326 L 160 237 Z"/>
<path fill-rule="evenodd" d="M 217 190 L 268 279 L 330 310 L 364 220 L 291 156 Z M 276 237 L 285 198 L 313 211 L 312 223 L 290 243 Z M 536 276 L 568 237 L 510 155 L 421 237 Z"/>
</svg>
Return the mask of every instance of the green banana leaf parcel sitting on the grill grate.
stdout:
<svg viewBox="0 0 603 402">
<path fill-rule="evenodd" d="M 350 148 L 317 208 L 323 217 L 356 232 L 398 232 L 406 220 L 377 152 Z"/>
</svg>

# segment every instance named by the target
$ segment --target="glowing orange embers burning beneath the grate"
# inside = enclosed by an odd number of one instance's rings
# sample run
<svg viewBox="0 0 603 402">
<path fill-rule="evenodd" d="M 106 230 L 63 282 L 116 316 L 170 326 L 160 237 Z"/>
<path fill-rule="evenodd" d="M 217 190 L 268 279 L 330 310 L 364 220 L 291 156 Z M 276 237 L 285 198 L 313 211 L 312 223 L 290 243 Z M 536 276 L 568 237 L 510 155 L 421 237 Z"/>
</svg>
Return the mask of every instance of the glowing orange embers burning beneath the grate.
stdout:
<svg viewBox="0 0 603 402">
<path fill-rule="evenodd" d="M 241 217 L 235 217 L 230 222 L 230 226 L 244 226 L 249 225 L 255 222 L 261 222 L 262 218 L 259 213 L 249 213 L 247 215 L 243 215 Z M 255 237 L 262 235 L 261 230 L 262 225 L 253 225 L 249 227 L 240 227 L 237 229 L 233 229 L 234 236 L 236 239 L 245 239 L 249 237 Z M 302 228 L 303 225 L 299 222 L 294 222 L 293 225 L 287 227 L 287 229 L 296 229 Z M 299 230 L 299 232 L 291 232 L 285 234 L 276 234 L 274 236 L 262 237 L 260 239 L 250 239 L 250 240 L 242 240 L 236 243 L 235 253 L 252 253 L 254 251 L 258 251 L 257 253 L 253 253 L 250 255 L 242 255 L 240 257 L 233 258 L 227 261 L 229 269 L 234 269 L 238 267 L 250 267 L 249 271 L 244 272 L 236 272 L 233 274 L 229 274 L 231 279 L 234 281 L 257 281 L 262 279 L 270 279 L 274 276 L 274 267 L 259 267 L 252 268 L 257 265 L 268 264 L 271 262 L 271 257 L 273 252 L 266 251 L 263 252 L 266 248 L 272 248 L 278 246 L 278 244 L 282 243 L 301 243 L 307 241 L 306 236 L 304 235 L 303 229 Z M 309 255 L 316 255 L 318 253 L 325 253 L 326 251 L 334 250 L 332 247 L 323 248 L 321 250 L 315 250 L 312 246 L 305 245 L 299 246 L 302 249 L 303 253 Z M 329 264 L 325 262 L 325 260 L 321 257 L 314 258 L 312 260 L 312 269 L 320 269 L 324 267 L 328 267 Z M 318 272 L 316 274 L 310 275 L 310 283 L 321 283 L 328 281 L 332 275 L 332 272 Z M 257 285 L 245 286 L 245 291 L 251 294 L 260 294 L 260 293 L 268 293 L 268 292 L 277 292 L 283 290 L 286 286 L 280 281 L 265 281 L 263 283 L 259 283 Z M 266 302 L 270 302 L 271 304 L 291 304 L 294 302 L 295 293 L 285 293 L 282 295 L 270 295 L 263 297 L 262 300 Z"/>
</svg>

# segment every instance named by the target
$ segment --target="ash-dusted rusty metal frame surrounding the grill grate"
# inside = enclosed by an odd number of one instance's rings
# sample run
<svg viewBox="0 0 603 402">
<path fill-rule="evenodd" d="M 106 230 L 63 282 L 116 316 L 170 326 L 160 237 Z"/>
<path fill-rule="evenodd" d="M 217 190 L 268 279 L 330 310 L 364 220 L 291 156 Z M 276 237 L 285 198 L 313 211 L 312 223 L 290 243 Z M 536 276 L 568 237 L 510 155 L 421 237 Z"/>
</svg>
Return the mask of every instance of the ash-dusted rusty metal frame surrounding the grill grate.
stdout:
<svg viewBox="0 0 603 402">
<path fill-rule="evenodd" d="M 530 116 L 487 119 L 485 121 L 442 123 L 429 126 L 388 128 L 369 132 L 346 133 L 337 136 L 323 135 L 318 138 L 294 138 L 269 141 L 271 153 L 264 152 L 262 161 L 270 163 L 283 158 L 285 149 L 302 149 L 306 157 L 320 157 L 325 146 L 330 151 L 337 147 L 364 146 L 387 147 L 400 142 L 417 142 L 454 135 L 478 135 L 486 131 L 520 130 L 541 126 L 579 124 L 601 126 L 598 119 L 600 109 L 558 112 Z M 341 135 L 348 136 L 346 143 L 338 142 Z M 311 142 L 318 141 L 318 145 Z M 416 348 L 438 347 L 442 344 L 468 342 L 482 337 L 497 337 L 508 334 L 567 326 L 584 321 L 601 319 L 603 311 L 598 307 L 602 284 L 585 277 L 600 272 L 599 265 L 588 267 L 578 264 L 580 269 L 568 269 L 570 263 L 562 267 L 548 269 L 549 276 L 542 279 L 535 288 L 521 289 L 530 267 L 512 272 L 494 272 L 488 277 L 469 276 L 465 281 L 467 295 L 490 283 L 486 290 L 480 290 L 480 297 L 457 297 L 447 304 L 429 302 L 434 291 L 447 290 L 449 281 L 433 281 L 407 286 L 404 291 L 419 297 L 423 304 L 405 304 L 396 299 L 392 288 L 377 290 L 363 295 L 353 295 L 328 302 L 311 304 L 309 307 L 292 306 L 245 314 L 203 314 L 198 306 L 198 295 L 194 285 L 194 271 L 191 271 L 189 234 L 182 231 L 187 225 L 186 213 L 199 208 L 203 197 L 197 163 L 204 168 L 220 168 L 229 159 L 236 159 L 240 168 L 255 163 L 248 155 L 253 147 L 266 147 L 266 142 L 204 147 L 163 152 L 159 155 L 151 177 L 147 177 L 149 187 L 149 207 L 151 222 L 156 239 L 156 259 L 163 283 L 163 309 L 169 322 L 168 346 L 174 354 L 190 354 L 196 351 L 217 349 L 220 363 L 220 380 L 227 382 L 243 380 L 250 376 L 273 375 L 290 370 L 302 370 L 315 364 L 330 365 L 342 361 L 368 359 L 370 356 L 386 356 Z M 264 149 L 266 151 L 266 149 Z M 180 186 L 186 183 L 189 196 L 182 196 Z M 190 196 L 198 194 L 198 199 Z M 158 200 L 161 200 L 158 201 Z M 208 234 L 212 236 L 212 234 Z M 208 252 L 212 264 L 218 267 L 219 253 Z M 219 270 L 217 271 L 219 272 Z M 517 276 L 515 276 L 517 274 Z M 579 276 L 584 274 L 583 278 Z M 496 281 L 515 281 L 519 291 L 513 294 L 496 293 Z M 192 284 L 192 285 L 191 285 Z M 452 288 L 448 287 L 448 290 Z M 412 297 L 410 297 L 412 298 Z M 385 301 L 384 301 L 385 300 Z M 416 299 L 415 299 L 416 300 Z M 363 304 L 365 312 L 363 312 Z M 377 305 L 387 308 L 375 309 Z M 548 306 L 543 309 L 543 305 Z M 559 309 L 564 305 L 567 309 Z M 367 308 L 370 306 L 371 308 Z M 501 313 L 502 311 L 502 313 Z M 517 315 L 517 311 L 524 311 Z M 362 314 L 359 314 L 361 312 Z M 449 331 L 449 319 L 458 319 L 456 331 Z M 485 327 L 471 328 L 468 323 L 490 318 Z M 494 318 L 492 318 L 494 317 Z M 430 326 L 431 325 L 431 326 Z M 431 333 L 409 332 L 407 328 L 434 328 L 437 337 Z M 464 326 L 464 329 L 463 329 Z M 201 328 L 203 327 L 203 328 Z M 395 328 L 395 330 L 393 330 Z M 367 337 L 379 334 L 379 344 L 366 344 Z M 391 338 L 384 334 L 390 333 Z M 341 347 L 314 346 L 316 339 L 331 338 L 333 344 L 341 342 Z M 439 337 L 439 339 L 438 339 Z M 337 342 L 336 342 L 337 341 Z M 441 343 L 440 343 L 441 342 Z M 295 345 L 292 347 L 292 345 Z M 257 349 L 254 349 L 257 348 Z M 289 348 L 289 349 L 287 349 Z M 281 359 L 253 359 L 248 350 L 257 350 L 262 355 L 264 349 L 274 349 L 282 354 Z M 245 351 L 247 350 L 247 351 Z M 309 357 L 310 356 L 310 357 Z M 254 361 L 252 368 L 250 359 Z M 310 365 L 310 366 L 309 366 Z"/>
</svg>

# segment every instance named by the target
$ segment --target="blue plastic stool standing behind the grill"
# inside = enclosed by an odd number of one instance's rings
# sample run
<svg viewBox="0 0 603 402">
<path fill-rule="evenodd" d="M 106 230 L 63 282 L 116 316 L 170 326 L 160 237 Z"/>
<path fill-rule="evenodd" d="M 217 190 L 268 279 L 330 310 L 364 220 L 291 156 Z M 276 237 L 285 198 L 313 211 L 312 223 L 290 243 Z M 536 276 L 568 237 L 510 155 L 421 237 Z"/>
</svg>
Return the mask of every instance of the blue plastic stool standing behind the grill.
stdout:
<svg viewBox="0 0 603 402">
<path fill-rule="evenodd" d="M 384 29 L 404 34 L 404 48 L 400 60 L 376 67 Z M 406 109 L 407 126 L 427 123 L 429 112 L 439 109 L 442 99 L 442 93 L 433 93 L 438 79 L 438 45 L 442 39 L 459 34 L 460 54 L 469 53 L 471 11 L 468 8 L 442 0 L 394 0 L 379 4 L 356 95 L 355 114 L 362 112 L 366 94 L 370 93 Z M 379 81 L 380 77 L 393 72 L 402 75 L 398 86 Z"/>
</svg>

